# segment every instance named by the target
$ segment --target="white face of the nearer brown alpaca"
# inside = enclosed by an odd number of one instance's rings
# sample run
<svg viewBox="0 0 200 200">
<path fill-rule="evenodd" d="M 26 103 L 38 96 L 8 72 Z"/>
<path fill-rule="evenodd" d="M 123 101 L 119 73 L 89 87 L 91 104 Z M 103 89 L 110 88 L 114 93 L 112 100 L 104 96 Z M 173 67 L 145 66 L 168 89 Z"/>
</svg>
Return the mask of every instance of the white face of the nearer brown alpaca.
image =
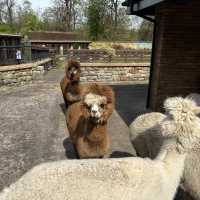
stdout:
<svg viewBox="0 0 200 200">
<path fill-rule="evenodd" d="M 105 96 L 89 93 L 84 98 L 84 106 L 86 107 L 87 115 L 95 122 L 98 122 L 103 116 L 106 104 L 107 99 Z"/>
</svg>

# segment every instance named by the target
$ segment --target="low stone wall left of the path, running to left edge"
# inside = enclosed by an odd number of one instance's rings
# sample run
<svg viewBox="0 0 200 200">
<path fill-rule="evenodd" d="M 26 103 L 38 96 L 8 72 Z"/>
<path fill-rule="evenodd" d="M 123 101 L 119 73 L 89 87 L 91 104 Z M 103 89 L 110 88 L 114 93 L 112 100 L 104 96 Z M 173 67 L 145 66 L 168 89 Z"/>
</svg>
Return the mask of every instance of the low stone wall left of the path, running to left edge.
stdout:
<svg viewBox="0 0 200 200">
<path fill-rule="evenodd" d="M 0 67 L 0 87 L 4 85 L 23 85 L 40 79 L 45 71 L 52 67 L 52 59 L 44 59 L 35 63 Z"/>
</svg>

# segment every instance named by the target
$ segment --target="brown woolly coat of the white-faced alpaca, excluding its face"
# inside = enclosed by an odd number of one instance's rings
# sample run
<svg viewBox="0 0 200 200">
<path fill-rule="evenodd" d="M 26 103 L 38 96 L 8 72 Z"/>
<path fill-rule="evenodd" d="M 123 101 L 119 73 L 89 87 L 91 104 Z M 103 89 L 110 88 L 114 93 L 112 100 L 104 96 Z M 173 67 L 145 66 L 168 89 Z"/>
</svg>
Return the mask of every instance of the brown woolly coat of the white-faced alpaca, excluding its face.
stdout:
<svg viewBox="0 0 200 200">
<path fill-rule="evenodd" d="M 114 93 L 109 86 L 85 85 L 87 92 L 106 96 L 107 105 L 100 121 L 95 124 L 88 118 L 83 102 L 69 106 L 66 113 L 67 127 L 80 158 L 104 157 L 110 148 L 107 121 L 114 109 Z"/>
</svg>

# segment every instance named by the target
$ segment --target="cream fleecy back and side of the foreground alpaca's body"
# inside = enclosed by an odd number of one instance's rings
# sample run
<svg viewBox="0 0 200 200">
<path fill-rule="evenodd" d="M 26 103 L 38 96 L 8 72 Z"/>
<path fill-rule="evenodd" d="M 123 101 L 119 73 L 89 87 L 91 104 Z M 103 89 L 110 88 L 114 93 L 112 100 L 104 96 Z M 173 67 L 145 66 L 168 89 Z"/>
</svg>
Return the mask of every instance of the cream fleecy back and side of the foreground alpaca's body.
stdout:
<svg viewBox="0 0 200 200">
<path fill-rule="evenodd" d="M 181 175 L 173 168 L 183 165 L 183 159 L 173 159 L 173 167 L 142 158 L 45 163 L 4 190 L 0 199 L 171 200 Z"/>
</svg>

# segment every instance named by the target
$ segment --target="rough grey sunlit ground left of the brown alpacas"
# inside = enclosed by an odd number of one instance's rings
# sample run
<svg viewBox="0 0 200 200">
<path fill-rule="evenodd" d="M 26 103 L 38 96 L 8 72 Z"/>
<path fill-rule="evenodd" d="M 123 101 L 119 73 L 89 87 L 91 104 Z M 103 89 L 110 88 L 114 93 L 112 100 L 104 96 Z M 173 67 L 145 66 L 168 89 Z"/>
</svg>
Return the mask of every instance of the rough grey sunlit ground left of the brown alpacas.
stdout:
<svg viewBox="0 0 200 200">
<path fill-rule="evenodd" d="M 65 159 L 60 91 L 45 83 L 0 92 L 0 189 L 33 166 Z M 61 114 L 60 114 L 61 113 Z"/>
</svg>

